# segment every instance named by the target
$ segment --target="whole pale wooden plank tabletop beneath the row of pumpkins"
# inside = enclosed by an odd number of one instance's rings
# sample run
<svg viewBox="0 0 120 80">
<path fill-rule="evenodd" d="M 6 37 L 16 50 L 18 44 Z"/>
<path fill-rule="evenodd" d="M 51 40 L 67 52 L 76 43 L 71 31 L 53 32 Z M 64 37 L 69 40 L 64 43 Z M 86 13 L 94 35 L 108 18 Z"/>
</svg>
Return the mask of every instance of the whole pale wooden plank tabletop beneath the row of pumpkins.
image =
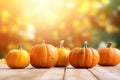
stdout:
<svg viewBox="0 0 120 80">
<path fill-rule="evenodd" d="M 120 65 L 75 69 L 72 66 L 10 69 L 0 64 L 0 80 L 120 80 Z"/>
</svg>

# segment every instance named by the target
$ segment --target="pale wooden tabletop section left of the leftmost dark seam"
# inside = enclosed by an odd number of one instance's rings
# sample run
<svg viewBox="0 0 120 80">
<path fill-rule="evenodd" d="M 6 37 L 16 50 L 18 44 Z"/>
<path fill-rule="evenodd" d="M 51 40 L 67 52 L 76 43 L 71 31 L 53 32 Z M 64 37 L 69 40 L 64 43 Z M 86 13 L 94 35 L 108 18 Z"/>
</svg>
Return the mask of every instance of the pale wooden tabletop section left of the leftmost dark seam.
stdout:
<svg viewBox="0 0 120 80">
<path fill-rule="evenodd" d="M 65 68 L 33 68 L 10 69 L 0 66 L 0 80 L 62 80 Z"/>
</svg>

